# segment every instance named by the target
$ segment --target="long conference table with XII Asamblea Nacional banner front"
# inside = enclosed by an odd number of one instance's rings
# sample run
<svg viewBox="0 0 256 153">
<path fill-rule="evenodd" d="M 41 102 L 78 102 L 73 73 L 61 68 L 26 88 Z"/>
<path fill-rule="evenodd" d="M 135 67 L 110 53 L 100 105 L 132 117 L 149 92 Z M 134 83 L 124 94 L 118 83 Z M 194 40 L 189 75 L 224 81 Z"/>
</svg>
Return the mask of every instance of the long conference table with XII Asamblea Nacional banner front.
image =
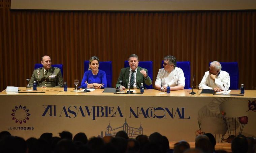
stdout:
<svg viewBox="0 0 256 153">
<path fill-rule="evenodd" d="M 25 92 L 26 88 L 19 88 Z M 0 131 L 24 139 L 62 131 L 87 137 L 115 135 L 124 130 L 130 138 L 154 132 L 169 141 L 193 142 L 195 134 L 213 133 L 217 142 L 229 135 L 256 136 L 256 91 L 231 90 L 228 95 L 196 94 L 191 90 L 145 90 L 143 94 L 73 92 L 68 88 L 37 88 L 38 93 L 0 93 Z M 197 90 L 194 90 L 197 92 Z M 45 92 L 45 93 L 41 93 Z M 255 108 L 256 109 L 256 108 Z M 254 111 L 253 111 L 254 110 Z"/>
</svg>

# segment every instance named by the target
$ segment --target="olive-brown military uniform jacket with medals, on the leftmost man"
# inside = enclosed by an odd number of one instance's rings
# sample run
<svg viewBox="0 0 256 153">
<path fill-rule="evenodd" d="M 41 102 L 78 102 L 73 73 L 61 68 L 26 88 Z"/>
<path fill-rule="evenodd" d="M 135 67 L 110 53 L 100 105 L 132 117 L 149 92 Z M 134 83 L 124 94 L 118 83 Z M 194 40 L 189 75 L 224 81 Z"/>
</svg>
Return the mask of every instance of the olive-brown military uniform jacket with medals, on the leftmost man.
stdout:
<svg viewBox="0 0 256 153">
<path fill-rule="evenodd" d="M 51 67 L 46 75 L 44 75 L 43 67 L 34 69 L 29 81 L 30 87 L 33 87 L 34 81 L 36 81 L 37 87 L 63 87 L 61 70 L 57 67 Z"/>
</svg>

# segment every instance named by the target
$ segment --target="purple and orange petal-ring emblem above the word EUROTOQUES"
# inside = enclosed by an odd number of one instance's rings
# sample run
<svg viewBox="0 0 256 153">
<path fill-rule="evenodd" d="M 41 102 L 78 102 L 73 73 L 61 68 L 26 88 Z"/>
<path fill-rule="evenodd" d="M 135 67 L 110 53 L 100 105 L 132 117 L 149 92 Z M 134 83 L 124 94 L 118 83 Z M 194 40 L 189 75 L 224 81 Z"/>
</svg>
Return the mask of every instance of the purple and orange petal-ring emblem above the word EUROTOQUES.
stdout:
<svg viewBox="0 0 256 153">
<path fill-rule="evenodd" d="M 26 120 L 29 120 L 28 116 L 30 116 L 30 113 L 28 113 L 29 109 L 26 109 L 26 106 L 15 106 L 15 109 L 12 109 L 12 112 L 11 116 L 13 116 L 12 119 L 15 120 L 15 123 L 19 122 L 22 124 L 22 122 L 26 123 Z"/>
</svg>

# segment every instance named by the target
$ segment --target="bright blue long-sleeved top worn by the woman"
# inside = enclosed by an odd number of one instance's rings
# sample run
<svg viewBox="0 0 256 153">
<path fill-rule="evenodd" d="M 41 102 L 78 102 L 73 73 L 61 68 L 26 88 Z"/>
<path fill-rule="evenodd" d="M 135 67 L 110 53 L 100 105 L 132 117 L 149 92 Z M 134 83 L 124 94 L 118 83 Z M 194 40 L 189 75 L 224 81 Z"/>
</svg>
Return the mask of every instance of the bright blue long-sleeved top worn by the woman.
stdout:
<svg viewBox="0 0 256 153">
<path fill-rule="evenodd" d="M 87 81 L 88 84 L 92 84 L 92 83 L 104 84 L 101 89 L 104 89 L 105 87 L 107 87 L 106 73 L 105 71 L 102 71 L 100 69 L 98 74 L 96 75 L 93 75 L 92 70 L 86 71 L 82 79 L 80 88 L 87 88 L 87 84 L 85 83 L 85 81 Z"/>
</svg>

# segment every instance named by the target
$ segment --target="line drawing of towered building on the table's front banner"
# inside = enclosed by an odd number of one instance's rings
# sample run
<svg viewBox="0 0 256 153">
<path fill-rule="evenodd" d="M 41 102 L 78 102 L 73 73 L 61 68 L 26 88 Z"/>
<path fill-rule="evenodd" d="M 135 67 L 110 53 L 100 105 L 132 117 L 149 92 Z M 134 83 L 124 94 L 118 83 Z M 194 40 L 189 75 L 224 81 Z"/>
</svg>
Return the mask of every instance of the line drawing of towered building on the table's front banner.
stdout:
<svg viewBox="0 0 256 153">
<path fill-rule="evenodd" d="M 116 127 L 116 128 L 112 128 L 110 126 L 110 123 L 108 123 L 106 132 L 105 132 L 105 136 L 111 135 L 111 136 L 115 137 L 115 135 L 118 131 L 125 131 L 129 138 L 136 138 L 138 135 L 143 135 L 143 128 L 141 126 L 141 123 L 140 123 L 139 128 L 131 127 L 128 125 L 128 123 L 126 122 L 126 119 L 125 119 L 123 126 Z M 103 138 L 103 132 L 101 132 L 100 137 Z"/>
</svg>

